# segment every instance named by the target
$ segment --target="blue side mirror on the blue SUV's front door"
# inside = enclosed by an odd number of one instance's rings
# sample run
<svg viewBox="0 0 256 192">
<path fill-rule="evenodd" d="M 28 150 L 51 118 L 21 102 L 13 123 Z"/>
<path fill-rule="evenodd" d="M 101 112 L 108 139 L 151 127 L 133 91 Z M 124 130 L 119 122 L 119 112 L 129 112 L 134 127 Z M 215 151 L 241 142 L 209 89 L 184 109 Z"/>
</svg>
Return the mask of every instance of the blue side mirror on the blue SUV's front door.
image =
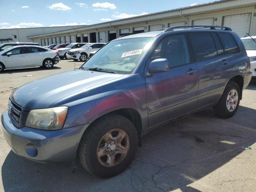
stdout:
<svg viewBox="0 0 256 192">
<path fill-rule="evenodd" d="M 162 73 L 170 70 L 169 61 L 165 58 L 155 59 L 149 64 L 149 73 Z"/>
</svg>

